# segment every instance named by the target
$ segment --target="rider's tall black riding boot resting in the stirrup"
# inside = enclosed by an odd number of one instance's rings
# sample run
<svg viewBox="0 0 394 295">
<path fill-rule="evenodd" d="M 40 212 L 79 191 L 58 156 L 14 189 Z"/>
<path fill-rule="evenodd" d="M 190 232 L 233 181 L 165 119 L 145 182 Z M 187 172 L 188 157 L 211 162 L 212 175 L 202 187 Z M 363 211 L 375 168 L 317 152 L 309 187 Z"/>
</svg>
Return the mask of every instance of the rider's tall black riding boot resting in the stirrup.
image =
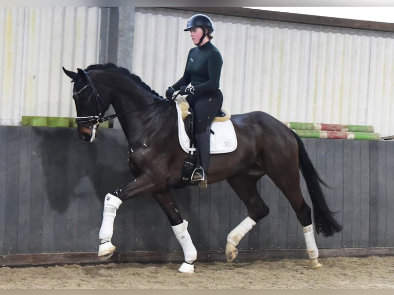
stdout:
<svg viewBox="0 0 394 295">
<path fill-rule="evenodd" d="M 197 155 L 199 156 L 199 166 L 196 167 L 191 176 L 191 183 L 199 183 L 200 187 L 207 186 L 207 173 L 209 165 L 211 129 L 207 127 L 205 132 L 196 135 Z"/>
</svg>

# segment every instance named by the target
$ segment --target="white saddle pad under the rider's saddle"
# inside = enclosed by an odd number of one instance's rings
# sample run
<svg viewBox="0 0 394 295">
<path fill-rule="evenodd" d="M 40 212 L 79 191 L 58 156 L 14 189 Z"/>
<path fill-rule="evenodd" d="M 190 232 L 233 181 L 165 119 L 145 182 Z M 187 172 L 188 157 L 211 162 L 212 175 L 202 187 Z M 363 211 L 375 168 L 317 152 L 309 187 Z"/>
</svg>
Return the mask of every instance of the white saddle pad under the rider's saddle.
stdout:
<svg viewBox="0 0 394 295">
<path fill-rule="evenodd" d="M 182 149 L 188 153 L 190 149 L 190 139 L 185 131 L 185 124 L 182 120 L 182 110 L 176 103 L 178 114 L 178 137 Z M 230 120 L 224 122 L 213 122 L 211 130 L 214 134 L 210 136 L 210 153 L 223 154 L 234 152 L 237 149 L 237 135 Z"/>
</svg>

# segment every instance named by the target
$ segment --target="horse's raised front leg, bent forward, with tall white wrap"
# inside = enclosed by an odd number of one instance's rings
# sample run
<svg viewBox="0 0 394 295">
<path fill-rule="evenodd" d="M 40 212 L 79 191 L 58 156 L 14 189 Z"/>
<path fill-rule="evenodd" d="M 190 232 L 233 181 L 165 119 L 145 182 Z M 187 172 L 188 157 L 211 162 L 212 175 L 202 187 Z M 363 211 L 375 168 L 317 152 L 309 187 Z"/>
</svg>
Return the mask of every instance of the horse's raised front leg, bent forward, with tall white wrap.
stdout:
<svg viewBox="0 0 394 295">
<path fill-rule="evenodd" d="M 126 187 L 112 194 L 106 194 L 104 198 L 103 219 L 99 232 L 100 245 L 98 256 L 108 259 L 115 252 L 116 247 L 111 243 L 111 239 L 114 232 L 116 211 L 122 202 L 128 198 L 157 190 L 159 184 L 155 185 L 154 183 L 155 181 L 151 177 L 146 175 L 140 176 L 133 182 L 130 182 Z"/>
</svg>

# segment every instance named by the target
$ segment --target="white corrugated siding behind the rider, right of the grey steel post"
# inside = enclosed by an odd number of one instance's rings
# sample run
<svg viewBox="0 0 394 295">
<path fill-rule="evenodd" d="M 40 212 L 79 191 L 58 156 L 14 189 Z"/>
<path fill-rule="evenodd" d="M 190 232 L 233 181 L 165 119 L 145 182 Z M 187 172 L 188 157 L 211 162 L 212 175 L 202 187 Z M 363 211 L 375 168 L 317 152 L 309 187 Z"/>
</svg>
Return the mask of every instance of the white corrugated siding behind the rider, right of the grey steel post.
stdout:
<svg viewBox="0 0 394 295">
<path fill-rule="evenodd" d="M 183 32 L 189 14 L 136 12 L 132 70 L 160 94 L 183 74 L 193 46 Z M 394 134 L 394 34 L 209 16 L 231 113 L 264 110 L 281 121 Z"/>
</svg>

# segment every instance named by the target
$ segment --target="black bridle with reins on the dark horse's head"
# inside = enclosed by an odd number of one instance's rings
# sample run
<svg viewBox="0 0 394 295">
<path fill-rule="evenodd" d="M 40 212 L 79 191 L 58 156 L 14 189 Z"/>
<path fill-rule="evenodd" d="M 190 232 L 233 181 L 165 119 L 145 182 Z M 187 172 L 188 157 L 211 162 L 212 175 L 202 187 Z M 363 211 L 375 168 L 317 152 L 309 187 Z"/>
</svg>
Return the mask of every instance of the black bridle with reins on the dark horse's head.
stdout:
<svg viewBox="0 0 394 295">
<path fill-rule="evenodd" d="M 75 121 L 76 121 L 76 123 L 77 123 L 78 125 L 81 125 L 81 126 L 83 126 L 83 127 L 85 127 L 85 128 L 88 128 L 89 130 L 90 130 L 90 129 L 93 129 L 93 132 L 94 132 L 94 133 L 95 133 L 95 131 L 96 131 L 97 126 L 98 126 L 99 124 L 105 122 L 105 121 L 109 121 L 109 120 L 115 119 L 115 118 L 117 118 L 117 117 L 120 117 L 120 116 L 129 114 L 129 113 L 132 113 L 132 112 L 134 112 L 135 110 L 138 110 L 138 109 L 141 109 L 141 108 L 145 108 L 145 107 L 154 105 L 154 104 L 159 103 L 159 102 L 163 102 L 163 101 L 166 101 L 166 100 L 174 100 L 174 99 L 179 95 L 179 93 L 178 93 L 178 94 L 176 94 L 175 96 L 173 96 L 171 99 L 165 98 L 165 99 L 155 101 L 155 102 L 153 102 L 153 103 L 150 103 L 150 104 L 145 105 L 145 106 L 142 106 L 142 107 L 138 107 L 138 108 L 135 108 L 135 109 L 127 110 L 126 112 L 123 112 L 123 113 L 121 113 L 121 114 L 113 114 L 113 115 L 105 116 L 105 117 L 104 117 L 104 116 L 103 116 L 103 113 L 104 113 L 105 111 L 103 112 L 102 109 L 100 108 L 100 104 L 101 104 L 101 106 L 104 106 L 104 103 L 102 102 L 102 100 L 101 100 L 99 94 L 97 93 L 96 87 L 93 85 L 92 80 L 90 79 L 90 77 L 87 75 L 86 72 L 85 72 L 85 76 L 86 76 L 86 79 L 87 79 L 88 84 L 86 84 L 82 89 L 80 89 L 79 91 L 77 91 L 76 93 L 74 93 L 74 94 L 73 94 L 73 97 L 76 96 L 76 95 L 78 95 L 78 94 L 80 94 L 80 93 L 82 93 L 82 91 L 84 91 L 85 89 L 87 89 L 88 87 L 90 87 L 90 88 L 92 89 L 92 95 L 93 95 L 93 97 L 94 97 L 94 104 L 95 104 L 95 109 L 96 109 L 96 115 L 94 115 L 94 116 L 86 116 L 86 117 L 76 117 L 76 118 L 75 118 Z M 92 124 L 92 122 L 93 122 L 94 124 Z"/>
</svg>

